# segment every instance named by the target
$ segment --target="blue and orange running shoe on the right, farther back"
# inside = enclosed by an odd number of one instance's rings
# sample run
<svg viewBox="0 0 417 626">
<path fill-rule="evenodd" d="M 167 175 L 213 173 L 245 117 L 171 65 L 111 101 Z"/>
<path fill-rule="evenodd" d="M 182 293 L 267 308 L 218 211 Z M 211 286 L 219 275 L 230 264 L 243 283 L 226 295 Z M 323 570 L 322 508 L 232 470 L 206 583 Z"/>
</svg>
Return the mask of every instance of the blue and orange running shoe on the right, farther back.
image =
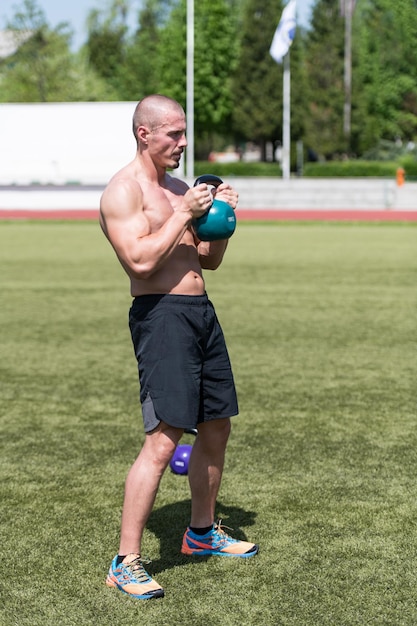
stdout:
<svg viewBox="0 0 417 626">
<path fill-rule="evenodd" d="M 223 530 L 221 520 L 213 524 L 213 529 L 206 535 L 196 535 L 187 528 L 185 531 L 181 552 L 182 554 L 197 556 L 237 556 L 247 559 L 259 552 L 259 546 L 248 541 L 239 541 L 229 537 Z"/>
</svg>

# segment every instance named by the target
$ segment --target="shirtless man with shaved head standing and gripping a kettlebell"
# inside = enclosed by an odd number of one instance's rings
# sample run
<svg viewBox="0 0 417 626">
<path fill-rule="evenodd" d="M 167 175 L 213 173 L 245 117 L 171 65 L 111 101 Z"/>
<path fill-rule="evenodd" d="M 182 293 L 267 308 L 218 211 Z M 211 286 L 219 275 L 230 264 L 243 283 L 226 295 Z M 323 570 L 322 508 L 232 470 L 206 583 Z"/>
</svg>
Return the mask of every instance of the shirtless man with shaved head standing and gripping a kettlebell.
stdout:
<svg viewBox="0 0 417 626">
<path fill-rule="evenodd" d="M 164 595 L 141 559 L 141 540 L 162 475 L 188 428 L 197 428 L 189 460 L 190 526 L 181 552 L 250 557 L 258 546 L 215 523 L 230 417 L 238 413 L 229 357 L 202 269 L 215 270 L 227 240 L 201 242 L 192 220 L 212 203 L 206 184 L 189 188 L 167 174 L 187 145 L 185 114 L 161 95 L 139 102 L 133 116 L 136 156 L 106 187 L 104 234 L 130 279 L 129 323 L 138 360 L 145 441 L 125 484 L 119 552 L 107 585 L 138 599 Z M 216 197 L 234 209 L 227 183 Z"/>
</svg>

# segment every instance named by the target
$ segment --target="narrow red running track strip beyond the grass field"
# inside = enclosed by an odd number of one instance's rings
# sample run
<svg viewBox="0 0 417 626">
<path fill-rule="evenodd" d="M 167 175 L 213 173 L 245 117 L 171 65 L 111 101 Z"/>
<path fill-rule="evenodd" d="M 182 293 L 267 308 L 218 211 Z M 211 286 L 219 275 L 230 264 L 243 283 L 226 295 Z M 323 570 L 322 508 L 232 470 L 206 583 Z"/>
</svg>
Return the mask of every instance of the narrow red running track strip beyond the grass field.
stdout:
<svg viewBox="0 0 417 626">
<path fill-rule="evenodd" d="M 368 222 L 416 222 L 417 211 L 400 210 L 360 210 L 360 209 L 238 209 L 236 217 L 240 221 L 368 221 Z M 0 209 L 1 219 L 12 220 L 96 220 L 96 209 Z"/>
</svg>

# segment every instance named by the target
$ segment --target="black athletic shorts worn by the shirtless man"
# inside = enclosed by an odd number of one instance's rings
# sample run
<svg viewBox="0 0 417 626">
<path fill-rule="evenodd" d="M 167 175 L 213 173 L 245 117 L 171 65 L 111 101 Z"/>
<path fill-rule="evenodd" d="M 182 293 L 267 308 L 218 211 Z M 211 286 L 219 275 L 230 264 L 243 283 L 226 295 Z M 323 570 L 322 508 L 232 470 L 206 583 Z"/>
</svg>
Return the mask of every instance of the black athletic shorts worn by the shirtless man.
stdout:
<svg viewBox="0 0 417 626">
<path fill-rule="evenodd" d="M 207 295 L 133 300 L 129 326 L 138 361 L 145 432 L 232 417 L 236 389 L 223 332 Z"/>
</svg>

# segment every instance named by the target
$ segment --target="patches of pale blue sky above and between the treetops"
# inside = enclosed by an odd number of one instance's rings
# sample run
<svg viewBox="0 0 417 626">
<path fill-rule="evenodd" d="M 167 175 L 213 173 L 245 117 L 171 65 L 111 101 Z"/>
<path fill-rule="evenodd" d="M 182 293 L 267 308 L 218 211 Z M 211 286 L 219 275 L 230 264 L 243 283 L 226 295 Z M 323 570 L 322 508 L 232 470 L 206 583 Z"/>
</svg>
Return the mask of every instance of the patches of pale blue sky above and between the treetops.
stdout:
<svg viewBox="0 0 417 626">
<path fill-rule="evenodd" d="M 298 21 L 302 26 L 306 26 L 310 16 L 311 7 L 315 0 L 297 0 Z M 8 20 L 16 12 L 16 8 L 22 6 L 18 0 L 1 0 L 0 2 L 0 30 L 4 29 Z M 101 0 L 37 0 L 39 6 L 45 13 L 49 25 L 54 28 L 59 22 L 69 22 L 74 30 L 73 48 L 78 49 L 86 39 L 85 22 L 91 9 L 103 9 L 105 6 Z M 136 24 L 136 16 L 142 0 L 130 0 L 132 7 L 131 22 Z M 277 23 L 280 15 L 277 15 Z"/>
</svg>

